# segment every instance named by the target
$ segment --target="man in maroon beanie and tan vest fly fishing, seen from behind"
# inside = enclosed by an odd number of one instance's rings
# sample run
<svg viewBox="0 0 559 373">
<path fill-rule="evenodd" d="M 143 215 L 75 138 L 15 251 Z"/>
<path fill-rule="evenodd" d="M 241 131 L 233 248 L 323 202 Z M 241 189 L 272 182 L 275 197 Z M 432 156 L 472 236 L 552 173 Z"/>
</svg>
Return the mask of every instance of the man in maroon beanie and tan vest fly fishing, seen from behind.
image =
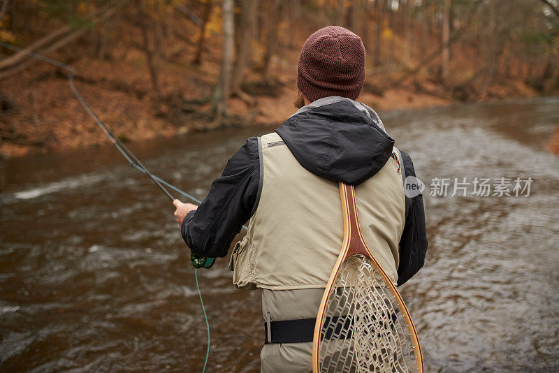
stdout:
<svg viewBox="0 0 559 373">
<path fill-rule="evenodd" d="M 174 200 L 184 242 L 226 256 L 239 288 L 262 289 L 262 372 L 310 372 L 314 319 L 344 237 L 337 182 L 356 186 L 363 237 L 393 283 L 422 266 L 428 242 L 415 176 L 377 113 L 355 101 L 365 47 L 342 27 L 312 34 L 300 53 L 298 110 L 273 133 L 249 138 L 199 207 Z"/>
</svg>

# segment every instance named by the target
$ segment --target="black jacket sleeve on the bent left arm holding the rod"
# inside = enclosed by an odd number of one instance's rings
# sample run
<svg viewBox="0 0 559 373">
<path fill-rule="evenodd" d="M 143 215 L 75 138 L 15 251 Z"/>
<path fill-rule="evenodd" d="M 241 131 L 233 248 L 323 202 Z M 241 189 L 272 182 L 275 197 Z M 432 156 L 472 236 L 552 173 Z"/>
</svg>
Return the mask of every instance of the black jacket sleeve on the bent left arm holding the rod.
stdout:
<svg viewBox="0 0 559 373">
<path fill-rule="evenodd" d="M 212 182 L 198 209 L 184 217 L 181 231 L 187 246 L 201 256 L 226 256 L 242 224 L 254 213 L 259 184 L 259 143 L 249 138 Z"/>
</svg>

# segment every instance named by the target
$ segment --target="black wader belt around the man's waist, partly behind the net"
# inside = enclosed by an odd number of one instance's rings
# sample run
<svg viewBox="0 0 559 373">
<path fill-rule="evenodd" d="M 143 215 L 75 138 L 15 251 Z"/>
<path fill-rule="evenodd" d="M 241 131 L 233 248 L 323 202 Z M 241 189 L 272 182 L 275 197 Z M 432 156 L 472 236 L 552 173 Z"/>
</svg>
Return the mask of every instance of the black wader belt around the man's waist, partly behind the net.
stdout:
<svg viewBox="0 0 559 373">
<path fill-rule="evenodd" d="M 326 318 L 326 323 L 329 322 L 329 319 L 329 317 Z M 335 316 L 334 319 L 336 321 L 338 316 Z M 312 342 L 314 338 L 314 325 L 316 323 L 316 317 L 312 319 L 270 321 L 268 314 L 268 321 L 264 323 L 266 335 L 264 344 Z M 344 337 L 351 337 L 349 326 L 351 326 L 351 319 L 347 319 L 343 326 L 341 324 L 338 325 L 336 330 L 328 330 L 322 339 L 331 339 L 334 332 L 335 335 L 340 335 L 341 332 Z M 342 332 L 342 329 L 346 331 Z"/>
</svg>

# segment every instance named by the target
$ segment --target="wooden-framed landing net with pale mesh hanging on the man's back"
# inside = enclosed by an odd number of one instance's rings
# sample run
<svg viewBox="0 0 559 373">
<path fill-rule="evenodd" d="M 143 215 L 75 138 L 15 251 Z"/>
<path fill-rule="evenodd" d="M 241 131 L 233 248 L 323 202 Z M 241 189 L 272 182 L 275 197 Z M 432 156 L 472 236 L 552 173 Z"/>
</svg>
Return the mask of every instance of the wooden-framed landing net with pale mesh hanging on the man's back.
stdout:
<svg viewBox="0 0 559 373">
<path fill-rule="evenodd" d="M 344 242 L 314 328 L 312 371 L 423 372 L 412 318 L 363 239 L 354 186 L 340 183 L 340 196 Z"/>
</svg>

